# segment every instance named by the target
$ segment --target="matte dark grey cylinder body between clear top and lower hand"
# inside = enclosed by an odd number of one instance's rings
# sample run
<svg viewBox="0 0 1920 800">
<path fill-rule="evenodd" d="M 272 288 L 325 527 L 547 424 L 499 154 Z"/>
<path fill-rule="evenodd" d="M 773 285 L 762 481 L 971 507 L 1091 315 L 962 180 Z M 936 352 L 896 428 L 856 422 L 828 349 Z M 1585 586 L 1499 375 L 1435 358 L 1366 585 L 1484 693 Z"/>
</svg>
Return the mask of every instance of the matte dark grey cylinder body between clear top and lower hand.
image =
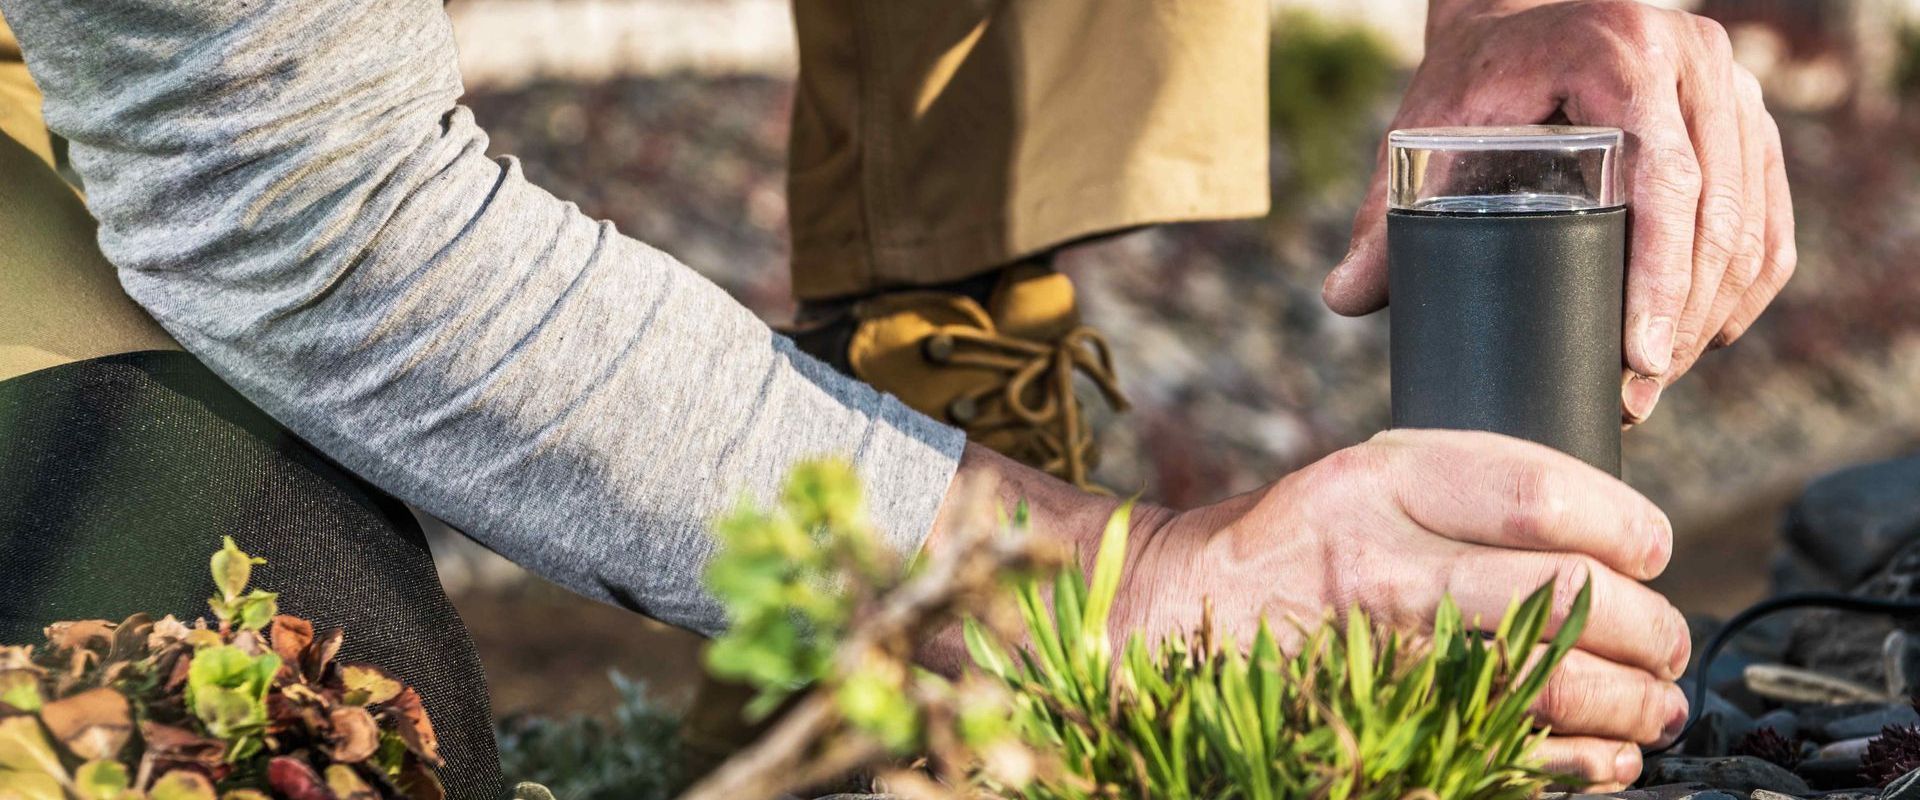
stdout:
<svg viewBox="0 0 1920 800">
<path fill-rule="evenodd" d="M 1490 430 L 1620 474 L 1626 209 L 1388 211 L 1394 428 Z"/>
</svg>

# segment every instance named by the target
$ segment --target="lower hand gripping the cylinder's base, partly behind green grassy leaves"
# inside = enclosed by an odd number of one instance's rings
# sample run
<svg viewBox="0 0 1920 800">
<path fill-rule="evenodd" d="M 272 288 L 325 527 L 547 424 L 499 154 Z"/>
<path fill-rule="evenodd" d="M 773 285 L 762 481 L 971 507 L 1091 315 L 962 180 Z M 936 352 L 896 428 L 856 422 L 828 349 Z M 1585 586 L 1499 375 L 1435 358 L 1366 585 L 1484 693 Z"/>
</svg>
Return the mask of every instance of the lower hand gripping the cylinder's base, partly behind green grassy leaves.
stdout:
<svg viewBox="0 0 1920 800">
<path fill-rule="evenodd" d="M 1559 451 L 1398 430 L 1265 489 L 1179 514 L 1146 508 L 1139 520 L 1116 631 L 1188 631 L 1204 599 L 1240 641 L 1261 616 L 1317 622 L 1327 608 L 1425 631 L 1444 595 L 1492 625 L 1544 583 L 1555 587 L 1557 627 L 1592 579 L 1588 627 L 1536 706 L 1555 733 L 1549 765 L 1632 783 L 1638 744 L 1665 742 L 1686 721 L 1670 683 L 1690 654 L 1686 620 L 1638 581 L 1667 568 L 1670 524 L 1626 483 Z"/>
</svg>

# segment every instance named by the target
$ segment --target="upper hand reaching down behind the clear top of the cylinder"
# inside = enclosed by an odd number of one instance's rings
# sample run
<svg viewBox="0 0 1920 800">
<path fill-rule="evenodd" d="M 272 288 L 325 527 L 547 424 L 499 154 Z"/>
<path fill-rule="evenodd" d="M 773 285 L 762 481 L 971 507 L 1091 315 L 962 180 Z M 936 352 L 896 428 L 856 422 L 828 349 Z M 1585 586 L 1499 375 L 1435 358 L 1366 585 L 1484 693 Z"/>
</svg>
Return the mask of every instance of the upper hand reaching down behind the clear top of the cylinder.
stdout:
<svg viewBox="0 0 1920 800">
<path fill-rule="evenodd" d="M 1572 125 L 1626 130 L 1626 422 L 1709 347 L 1743 334 L 1793 274 L 1780 130 L 1718 23 L 1630 0 L 1432 0 L 1427 59 L 1396 129 Z M 1386 305 L 1386 150 L 1327 305 Z"/>
</svg>

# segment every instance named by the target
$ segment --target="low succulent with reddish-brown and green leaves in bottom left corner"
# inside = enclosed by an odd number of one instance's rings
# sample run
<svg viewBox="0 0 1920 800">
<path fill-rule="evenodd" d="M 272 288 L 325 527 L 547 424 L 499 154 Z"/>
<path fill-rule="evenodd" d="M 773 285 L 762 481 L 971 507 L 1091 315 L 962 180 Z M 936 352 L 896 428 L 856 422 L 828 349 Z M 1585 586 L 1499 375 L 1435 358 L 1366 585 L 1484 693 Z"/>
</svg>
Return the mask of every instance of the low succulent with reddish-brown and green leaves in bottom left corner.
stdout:
<svg viewBox="0 0 1920 800">
<path fill-rule="evenodd" d="M 420 696 L 372 664 L 336 662 L 248 591 L 228 537 L 211 558 L 215 622 L 134 614 L 58 622 L 46 647 L 0 647 L 0 800 L 438 800 Z"/>
</svg>

